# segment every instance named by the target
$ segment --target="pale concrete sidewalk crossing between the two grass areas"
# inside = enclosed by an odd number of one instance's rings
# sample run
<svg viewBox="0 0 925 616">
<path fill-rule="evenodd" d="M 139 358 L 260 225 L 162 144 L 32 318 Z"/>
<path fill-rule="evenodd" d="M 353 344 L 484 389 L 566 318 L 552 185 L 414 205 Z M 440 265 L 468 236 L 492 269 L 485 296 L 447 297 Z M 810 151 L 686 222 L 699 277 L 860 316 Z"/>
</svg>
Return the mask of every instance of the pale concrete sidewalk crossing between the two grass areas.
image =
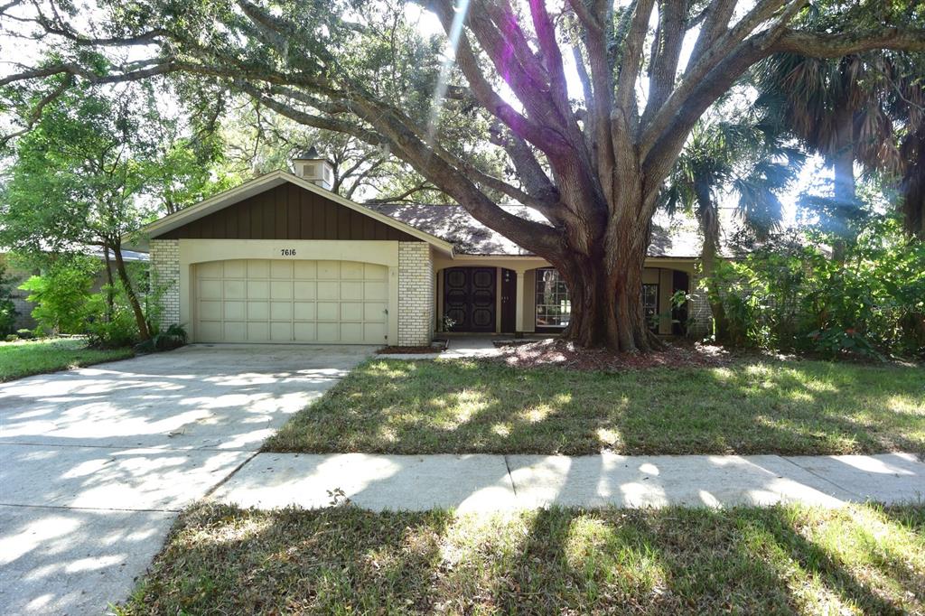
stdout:
<svg viewBox="0 0 925 616">
<path fill-rule="evenodd" d="M 213 498 L 259 508 L 326 507 L 342 490 L 366 509 L 504 511 L 549 505 L 724 507 L 925 499 L 915 455 L 538 456 L 261 453 Z"/>
</svg>

